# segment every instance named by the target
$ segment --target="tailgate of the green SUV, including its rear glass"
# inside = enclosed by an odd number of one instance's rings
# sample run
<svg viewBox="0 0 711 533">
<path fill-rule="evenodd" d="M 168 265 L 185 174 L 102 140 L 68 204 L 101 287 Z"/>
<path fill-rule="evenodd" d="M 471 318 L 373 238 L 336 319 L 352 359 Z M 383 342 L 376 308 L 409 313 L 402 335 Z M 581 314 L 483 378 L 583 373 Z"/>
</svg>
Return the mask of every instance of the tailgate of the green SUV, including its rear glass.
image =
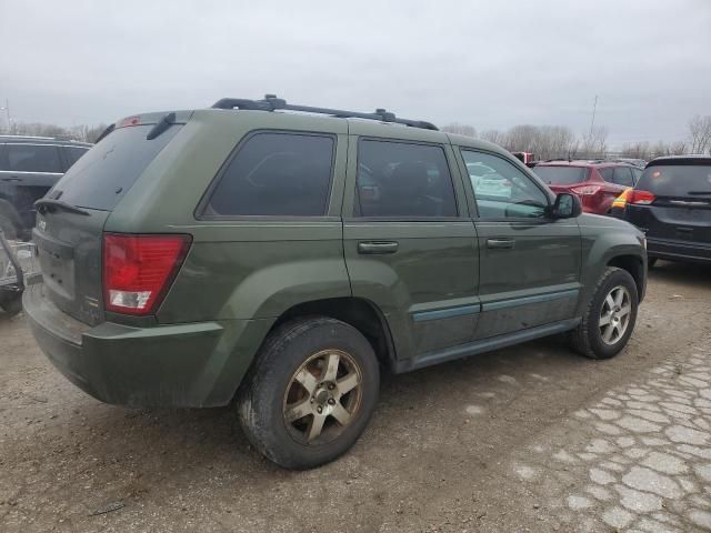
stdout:
<svg viewBox="0 0 711 533">
<path fill-rule="evenodd" d="M 149 122 L 149 123 L 146 123 Z M 181 129 L 173 124 L 148 140 L 157 120 L 114 129 L 69 169 L 40 205 L 33 239 L 43 294 L 88 324 L 103 321 L 103 225 L 143 170 Z"/>
</svg>

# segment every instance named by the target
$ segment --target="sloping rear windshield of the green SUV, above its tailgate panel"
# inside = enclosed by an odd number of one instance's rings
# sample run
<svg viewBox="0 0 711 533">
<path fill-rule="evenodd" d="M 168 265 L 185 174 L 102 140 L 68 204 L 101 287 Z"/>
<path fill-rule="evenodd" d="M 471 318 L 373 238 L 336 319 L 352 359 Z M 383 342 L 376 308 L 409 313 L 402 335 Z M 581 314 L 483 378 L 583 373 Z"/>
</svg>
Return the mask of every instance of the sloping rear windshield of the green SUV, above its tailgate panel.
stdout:
<svg viewBox="0 0 711 533">
<path fill-rule="evenodd" d="M 112 211 L 146 167 L 182 128 L 171 125 L 152 140 L 154 124 L 119 128 L 81 157 L 59 180 L 51 198 L 80 208 Z"/>
</svg>

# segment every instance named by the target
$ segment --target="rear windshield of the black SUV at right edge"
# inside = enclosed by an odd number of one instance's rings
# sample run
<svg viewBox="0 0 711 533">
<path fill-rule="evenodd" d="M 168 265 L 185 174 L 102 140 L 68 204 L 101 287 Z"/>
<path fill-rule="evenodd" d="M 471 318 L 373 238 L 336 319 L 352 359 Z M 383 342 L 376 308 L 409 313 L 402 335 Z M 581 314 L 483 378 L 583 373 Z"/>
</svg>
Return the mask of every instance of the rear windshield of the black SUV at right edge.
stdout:
<svg viewBox="0 0 711 533">
<path fill-rule="evenodd" d="M 658 197 L 711 197 L 711 165 L 654 165 L 642 172 L 637 189 Z"/>
</svg>

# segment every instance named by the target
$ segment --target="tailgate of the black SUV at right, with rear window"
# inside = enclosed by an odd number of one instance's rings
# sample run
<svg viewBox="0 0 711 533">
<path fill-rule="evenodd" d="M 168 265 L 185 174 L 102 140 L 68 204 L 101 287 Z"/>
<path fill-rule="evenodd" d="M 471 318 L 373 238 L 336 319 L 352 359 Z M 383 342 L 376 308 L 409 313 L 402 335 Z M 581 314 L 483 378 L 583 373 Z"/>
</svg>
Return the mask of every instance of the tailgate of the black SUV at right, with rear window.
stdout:
<svg viewBox="0 0 711 533">
<path fill-rule="evenodd" d="M 650 165 L 635 191 L 651 197 L 628 203 L 625 217 L 648 239 L 711 244 L 711 159 Z M 711 258 L 711 251 L 707 253 Z"/>
</svg>

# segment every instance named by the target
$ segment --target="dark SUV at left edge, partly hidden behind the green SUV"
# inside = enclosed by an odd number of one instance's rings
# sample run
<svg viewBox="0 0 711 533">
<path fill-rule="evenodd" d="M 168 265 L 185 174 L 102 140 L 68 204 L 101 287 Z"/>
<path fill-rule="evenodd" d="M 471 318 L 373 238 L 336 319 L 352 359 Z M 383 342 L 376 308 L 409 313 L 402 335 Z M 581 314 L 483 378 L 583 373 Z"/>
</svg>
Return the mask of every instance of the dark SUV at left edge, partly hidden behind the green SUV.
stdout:
<svg viewBox="0 0 711 533">
<path fill-rule="evenodd" d="M 8 239 L 29 237 L 34 201 L 90 148 L 50 137 L 0 135 L 0 229 Z"/>
</svg>

